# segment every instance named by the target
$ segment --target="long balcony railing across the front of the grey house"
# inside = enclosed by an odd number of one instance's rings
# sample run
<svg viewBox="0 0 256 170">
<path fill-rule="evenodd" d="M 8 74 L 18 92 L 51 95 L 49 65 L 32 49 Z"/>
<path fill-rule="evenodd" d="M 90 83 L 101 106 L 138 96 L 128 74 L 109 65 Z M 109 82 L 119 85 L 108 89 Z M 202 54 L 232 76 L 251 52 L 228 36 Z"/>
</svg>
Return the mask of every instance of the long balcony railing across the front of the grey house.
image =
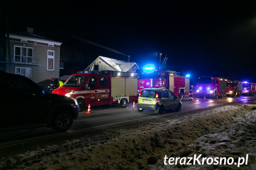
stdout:
<svg viewBox="0 0 256 170">
<path fill-rule="evenodd" d="M 11 56 L 11 58 L 12 58 L 12 63 L 41 65 L 41 59 L 35 59 L 32 57 L 25 57 L 25 56 Z M 9 57 L 5 54 L 0 54 L 0 62 L 9 63 Z"/>
</svg>

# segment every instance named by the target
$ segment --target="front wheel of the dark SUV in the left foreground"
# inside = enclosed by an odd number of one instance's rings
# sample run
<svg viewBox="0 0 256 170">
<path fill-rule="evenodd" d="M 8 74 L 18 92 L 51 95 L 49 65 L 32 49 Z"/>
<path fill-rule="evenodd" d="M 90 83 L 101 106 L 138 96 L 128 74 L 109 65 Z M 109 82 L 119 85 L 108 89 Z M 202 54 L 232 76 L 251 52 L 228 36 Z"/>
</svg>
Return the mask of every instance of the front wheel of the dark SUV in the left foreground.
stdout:
<svg viewBox="0 0 256 170">
<path fill-rule="evenodd" d="M 62 110 L 53 116 L 51 128 L 56 132 L 65 132 L 73 124 L 73 116 L 69 111 Z"/>
</svg>

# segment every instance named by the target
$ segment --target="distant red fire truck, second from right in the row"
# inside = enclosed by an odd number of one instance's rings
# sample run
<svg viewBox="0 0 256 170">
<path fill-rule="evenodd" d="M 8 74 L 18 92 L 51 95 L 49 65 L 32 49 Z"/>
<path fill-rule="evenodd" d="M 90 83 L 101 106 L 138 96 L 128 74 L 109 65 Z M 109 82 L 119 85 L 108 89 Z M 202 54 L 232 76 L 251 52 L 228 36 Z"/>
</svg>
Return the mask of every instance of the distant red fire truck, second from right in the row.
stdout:
<svg viewBox="0 0 256 170">
<path fill-rule="evenodd" d="M 226 91 L 226 96 L 231 96 L 231 97 L 240 97 L 242 95 L 242 87 L 243 84 L 241 81 L 234 80 L 234 81 L 227 81 L 227 91 Z"/>
</svg>

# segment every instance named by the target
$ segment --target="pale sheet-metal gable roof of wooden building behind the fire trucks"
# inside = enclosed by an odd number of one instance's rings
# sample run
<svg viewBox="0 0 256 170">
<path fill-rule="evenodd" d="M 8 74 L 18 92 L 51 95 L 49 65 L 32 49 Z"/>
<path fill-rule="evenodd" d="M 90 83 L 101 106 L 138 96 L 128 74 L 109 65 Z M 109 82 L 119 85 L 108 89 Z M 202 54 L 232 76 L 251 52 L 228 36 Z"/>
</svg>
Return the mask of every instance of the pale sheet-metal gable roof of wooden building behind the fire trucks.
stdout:
<svg viewBox="0 0 256 170">
<path fill-rule="evenodd" d="M 139 68 L 139 66 L 136 63 L 129 63 L 128 61 L 111 59 L 103 56 L 98 56 L 98 58 L 95 59 L 90 65 L 95 63 L 98 59 L 105 61 L 107 64 L 109 64 L 110 67 L 120 72 L 127 72 L 134 65 L 136 65 L 136 67 Z M 88 67 L 84 71 L 86 70 L 88 70 Z"/>
</svg>

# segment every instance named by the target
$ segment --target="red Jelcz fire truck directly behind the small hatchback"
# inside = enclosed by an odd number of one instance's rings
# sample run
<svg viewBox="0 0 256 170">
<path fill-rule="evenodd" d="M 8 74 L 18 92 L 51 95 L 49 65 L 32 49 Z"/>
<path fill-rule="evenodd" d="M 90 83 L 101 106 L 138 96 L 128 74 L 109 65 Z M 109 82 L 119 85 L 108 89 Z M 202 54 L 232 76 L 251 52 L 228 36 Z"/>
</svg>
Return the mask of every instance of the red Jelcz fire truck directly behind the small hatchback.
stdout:
<svg viewBox="0 0 256 170">
<path fill-rule="evenodd" d="M 189 77 L 179 76 L 175 71 L 145 72 L 143 69 L 137 69 L 135 73 L 138 75 L 138 94 L 144 88 L 166 88 L 181 100 L 189 95 Z"/>
</svg>

